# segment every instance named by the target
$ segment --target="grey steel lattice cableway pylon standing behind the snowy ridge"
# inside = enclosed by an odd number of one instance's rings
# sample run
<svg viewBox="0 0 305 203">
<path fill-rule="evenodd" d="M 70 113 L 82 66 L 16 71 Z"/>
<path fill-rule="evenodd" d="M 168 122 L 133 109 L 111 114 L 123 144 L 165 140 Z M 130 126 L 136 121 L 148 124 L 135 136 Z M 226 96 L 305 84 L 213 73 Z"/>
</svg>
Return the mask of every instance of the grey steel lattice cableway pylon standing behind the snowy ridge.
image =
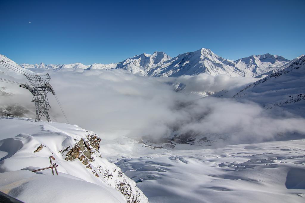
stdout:
<svg viewBox="0 0 305 203">
<path fill-rule="evenodd" d="M 41 117 L 45 117 L 45 119 L 49 122 L 51 121 L 48 110 L 50 110 L 50 105 L 47 97 L 48 92 L 52 92 L 54 95 L 55 92 L 52 86 L 48 83 L 51 78 L 49 74 L 46 75 L 26 75 L 27 79 L 30 82 L 30 85 L 19 85 L 20 87 L 28 89 L 33 94 L 32 102 L 35 102 L 36 107 L 36 118 L 35 122 L 40 121 Z"/>
</svg>

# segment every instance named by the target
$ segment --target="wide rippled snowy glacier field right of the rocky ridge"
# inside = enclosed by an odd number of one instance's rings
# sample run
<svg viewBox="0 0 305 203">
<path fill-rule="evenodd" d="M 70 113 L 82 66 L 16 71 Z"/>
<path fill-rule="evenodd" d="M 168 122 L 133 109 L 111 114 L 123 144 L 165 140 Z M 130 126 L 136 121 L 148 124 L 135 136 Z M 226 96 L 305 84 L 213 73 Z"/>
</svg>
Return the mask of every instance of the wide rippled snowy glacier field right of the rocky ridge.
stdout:
<svg viewBox="0 0 305 203">
<path fill-rule="evenodd" d="M 185 144 L 183 144 L 185 145 Z M 304 202 L 305 139 L 167 150 L 130 138 L 102 141 L 101 153 L 150 202 Z"/>
</svg>

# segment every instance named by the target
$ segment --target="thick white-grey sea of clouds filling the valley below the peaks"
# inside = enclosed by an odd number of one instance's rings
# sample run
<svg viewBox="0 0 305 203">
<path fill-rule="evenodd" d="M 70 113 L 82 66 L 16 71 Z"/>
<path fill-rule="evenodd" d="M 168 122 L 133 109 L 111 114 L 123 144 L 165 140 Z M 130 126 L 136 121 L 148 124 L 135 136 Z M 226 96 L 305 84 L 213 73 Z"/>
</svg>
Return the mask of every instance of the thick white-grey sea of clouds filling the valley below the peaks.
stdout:
<svg viewBox="0 0 305 203">
<path fill-rule="evenodd" d="M 153 78 L 118 69 L 48 73 L 70 124 L 105 139 L 163 138 L 193 131 L 229 135 L 228 144 L 238 144 L 261 142 L 285 132 L 305 133 L 305 120 L 292 114 L 278 114 L 251 101 L 202 98 L 205 92 L 242 89 L 255 78 L 208 74 Z M 175 91 L 175 83 L 184 84 L 184 89 Z M 13 85 L 7 85 L 7 91 L 13 95 L 5 96 L 0 105 L 16 101 L 31 109 L 29 116 L 34 117 L 30 92 Z M 67 122 L 51 93 L 48 99 L 52 116 Z"/>
</svg>

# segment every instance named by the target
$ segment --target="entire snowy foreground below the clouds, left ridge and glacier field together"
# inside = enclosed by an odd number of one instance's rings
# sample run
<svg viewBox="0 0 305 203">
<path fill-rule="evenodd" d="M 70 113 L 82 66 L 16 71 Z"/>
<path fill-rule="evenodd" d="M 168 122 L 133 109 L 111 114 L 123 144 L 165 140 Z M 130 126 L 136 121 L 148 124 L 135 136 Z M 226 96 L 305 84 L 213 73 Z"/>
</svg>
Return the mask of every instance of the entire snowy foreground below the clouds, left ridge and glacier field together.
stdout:
<svg viewBox="0 0 305 203">
<path fill-rule="evenodd" d="M 67 161 L 69 156 L 61 151 L 79 139 L 88 143 L 85 137 L 93 132 L 69 124 L 0 118 L 0 191 L 24 202 L 126 202 L 114 182 L 127 186 L 124 193 L 135 202 L 147 202 L 142 192 L 149 202 L 305 200 L 305 139 L 299 135 L 217 149 L 180 144 L 186 150 L 121 137 L 103 140 L 99 152 L 91 153 L 89 169 L 79 160 Z M 34 152 L 41 144 L 44 147 Z M 30 171 L 48 166 L 49 156 L 56 159 L 59 176 L 50 169 Z"/>
</svg>

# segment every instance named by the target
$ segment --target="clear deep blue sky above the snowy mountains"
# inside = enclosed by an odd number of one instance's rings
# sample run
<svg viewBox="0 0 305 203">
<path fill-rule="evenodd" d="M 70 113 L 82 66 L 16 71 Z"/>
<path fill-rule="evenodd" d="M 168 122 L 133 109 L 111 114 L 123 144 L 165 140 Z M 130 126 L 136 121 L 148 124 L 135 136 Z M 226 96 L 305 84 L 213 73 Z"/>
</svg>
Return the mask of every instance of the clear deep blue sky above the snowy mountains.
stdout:
<svg viewBox="0 0 305 203">
<path fill-rule="evenodd" d="M 0 53 L 17 63 L 90 65 L 202 47 L 231 60 L 305 54 L 305 0 L 0 1 Z"/>
</svg>

